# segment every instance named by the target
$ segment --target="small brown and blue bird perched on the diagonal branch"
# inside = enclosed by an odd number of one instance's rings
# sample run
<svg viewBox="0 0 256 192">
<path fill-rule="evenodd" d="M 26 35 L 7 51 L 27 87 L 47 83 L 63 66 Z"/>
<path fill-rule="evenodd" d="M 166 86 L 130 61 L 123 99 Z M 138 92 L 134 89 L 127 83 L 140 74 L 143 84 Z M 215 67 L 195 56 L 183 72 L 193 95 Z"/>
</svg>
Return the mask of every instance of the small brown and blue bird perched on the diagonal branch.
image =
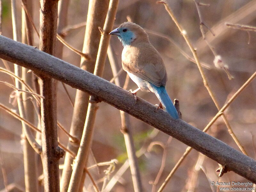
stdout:
<svg viewBox="0 0 256 192">
<path fill-rule="evenodd" d="M 149 42 L 148 34 L 139 25 L 124 22 L 109 35 L 116 35 L 122 42 L 122 66 L 138 89 L 131 91 L 147 91 L 156 94 L 160 101 L 158 108 L 163 105 L 174 119 L 179 119 L 176 108 L 168 96 L 165 85 L 167 81 L 164 61 L 153 45 Z"/>
</svg>

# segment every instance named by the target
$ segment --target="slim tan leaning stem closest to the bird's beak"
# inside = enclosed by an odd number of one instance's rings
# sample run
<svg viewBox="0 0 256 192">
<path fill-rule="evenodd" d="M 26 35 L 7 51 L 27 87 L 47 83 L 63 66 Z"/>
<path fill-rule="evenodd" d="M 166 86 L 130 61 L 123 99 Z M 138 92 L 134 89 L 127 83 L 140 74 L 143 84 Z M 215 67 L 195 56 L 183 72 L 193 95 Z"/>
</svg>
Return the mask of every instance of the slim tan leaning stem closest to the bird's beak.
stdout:
<svg viewBox="0 0 256 192">
<path fill-rule="evenodd" d="M 99 50 L 97 53 L 97 59 L 95 63 L 94 75 L 102 76 L 107 57 L 108 43 L 110 36 L 108 33 L 111 31 L 114 25 L 118 0 L 111 0 L 108 6 L 108 14 L 104 23 L 103 31 L 101 31 Z M 92 97 L 91 97 L 92 98 Z M 92 99 L 94 100 L 94 99 Z M 88 159 L 89 149 L 92 140 L 93 127 L 95 122 L 95 115 L 98 109 L 98 103 L 89 103 L 87 109 L 87 115 L 84 124 L 84 131 L 81 138 L 80 147 L 77 152 L 76 162 L 73 166 L 73 172 L 71 175 L 70 183 L 68 186 L 68 192 L 76 192 L 78 190 L 78 183 L 82 176 L 81 167 L 86 166 Z M 84 183 L 84 180 L 80 181 L 80 185 Z"/>
</svg>

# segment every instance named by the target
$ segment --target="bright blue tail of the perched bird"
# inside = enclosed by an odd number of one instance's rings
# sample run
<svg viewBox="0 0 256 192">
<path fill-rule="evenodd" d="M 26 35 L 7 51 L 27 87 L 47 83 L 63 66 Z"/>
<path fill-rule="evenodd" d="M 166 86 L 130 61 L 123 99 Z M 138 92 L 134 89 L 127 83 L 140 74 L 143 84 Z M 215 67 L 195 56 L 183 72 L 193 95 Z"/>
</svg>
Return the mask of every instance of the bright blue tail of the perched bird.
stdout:
<svg viewBox="0 0 256 192">
<path fill-rule="evenodd" d="M 172 118 L 179 119 L 176 108 L 173 106 L 172 100 L 170 99 L 169 95 L 167 94 L 165 87 L 164 86 L 157 87 L 154 84 L 151 84 L 151 85 L 156 94 L 156 97 L 163 104 L 166 111 L 172 116 Z"/>
</svg>

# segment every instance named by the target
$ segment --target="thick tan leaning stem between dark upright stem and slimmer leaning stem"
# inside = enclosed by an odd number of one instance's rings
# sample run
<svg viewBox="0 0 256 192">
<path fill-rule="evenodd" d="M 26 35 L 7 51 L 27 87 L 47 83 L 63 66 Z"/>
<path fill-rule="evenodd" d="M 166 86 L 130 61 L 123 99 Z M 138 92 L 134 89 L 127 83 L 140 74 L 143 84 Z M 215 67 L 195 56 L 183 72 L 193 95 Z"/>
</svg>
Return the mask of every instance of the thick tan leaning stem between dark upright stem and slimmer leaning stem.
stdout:
<svg viewBox="0 0 256 192">
<path fill-rule="evenodd" d="M 98 27 L 103 27 L 104 19 L 108 11 L 109 0 L 90 0 L 87 14 L 87 25 L 84 35 L 83 53 L 87 53 L 91 60 L 85 60 L 81 57 L 80 67 L 93 73 L 95 60 L 97 57 L 98 47 L 100 43 L 100 32 Z M 76 99 L 74 112 L 72 116 L 72 123 L 70 127 L 70 134 L 81 140 L 86 111 L 88 107 L 89 95 L 80 90 L 76 91 Z M 74 153 L 77 153 L 79 146 L 74 145 L 72 142 L 68 142 L 67 148 Z M 71 164 L 73 164 L 74 158 L 69 154 L 65 156 L 64 168 L 60 180 L 60 191 L 68 191 L 68 183 L 72 173 Z M 85 174 L 85 172 L 84 172 Z"/>
</svg>

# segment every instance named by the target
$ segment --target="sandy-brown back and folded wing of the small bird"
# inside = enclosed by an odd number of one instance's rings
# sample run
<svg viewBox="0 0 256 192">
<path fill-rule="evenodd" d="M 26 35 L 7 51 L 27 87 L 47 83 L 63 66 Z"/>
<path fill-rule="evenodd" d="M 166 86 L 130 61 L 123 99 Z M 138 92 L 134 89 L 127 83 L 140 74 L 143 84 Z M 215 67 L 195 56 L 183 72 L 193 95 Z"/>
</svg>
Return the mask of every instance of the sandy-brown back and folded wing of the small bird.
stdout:
<svg viewBox="0 0 256 192">
<path fill-rule="evenodd" d="M 122 66 L 125 71 L 139 76 L 158 87 L 166 84 L 167 75 L 164 62 L 150 43 L 124 48 Z"/>
</svg>

